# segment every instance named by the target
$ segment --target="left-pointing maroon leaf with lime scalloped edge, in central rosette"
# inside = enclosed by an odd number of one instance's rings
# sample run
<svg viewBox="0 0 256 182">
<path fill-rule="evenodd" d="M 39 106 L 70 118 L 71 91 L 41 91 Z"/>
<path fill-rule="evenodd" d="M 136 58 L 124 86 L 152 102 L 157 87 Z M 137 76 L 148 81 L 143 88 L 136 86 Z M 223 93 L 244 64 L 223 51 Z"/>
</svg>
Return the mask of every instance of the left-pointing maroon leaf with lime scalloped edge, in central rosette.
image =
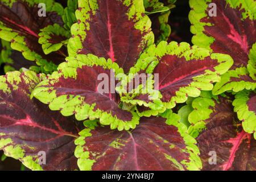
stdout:
<svg viewBox="0 0 256 182">
<path fill-rule="evenodd" d="M 115 83 L 112 85 L 111 81 L 112 77 L 123 73 L 123 69 L 110 59 L 106 61 L 104 57 L 91 54 L 67 60 L 59 65 L 59 72 L 53 72 L 36 86 L 32 96 L 65 116 L 75 114 L 79 121 L 99 118 L 102 125 L 110 125 L 111 129 L 134 129 L 139 117 L 134 111 L 119 108 Z M 102 85 L 102 78 L 98 78 L 100 73 L 108 77 L 107 84 Z"/>
</svg>

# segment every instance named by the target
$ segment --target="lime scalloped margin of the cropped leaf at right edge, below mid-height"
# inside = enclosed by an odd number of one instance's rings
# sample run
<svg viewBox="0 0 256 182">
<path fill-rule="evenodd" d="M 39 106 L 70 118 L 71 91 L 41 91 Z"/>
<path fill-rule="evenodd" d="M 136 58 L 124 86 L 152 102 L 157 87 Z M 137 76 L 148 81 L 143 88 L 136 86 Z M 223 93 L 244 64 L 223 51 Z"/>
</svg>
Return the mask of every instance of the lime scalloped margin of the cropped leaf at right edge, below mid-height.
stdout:
<svg viewBox="0 0 256 182">
<path fill-rule="evenodd" d="M 234 106 L 234 111 L 237 113 L 238 119 L 242 121 L 243 130 L 250 134 L 253 133 L 254 139 L 256 139 L 256 113 L 248 109 L 247 101 L 250 99 L 249 94 L 250 90 L 243 90 L 237 93 L 232 105 Z"/>
</svg>

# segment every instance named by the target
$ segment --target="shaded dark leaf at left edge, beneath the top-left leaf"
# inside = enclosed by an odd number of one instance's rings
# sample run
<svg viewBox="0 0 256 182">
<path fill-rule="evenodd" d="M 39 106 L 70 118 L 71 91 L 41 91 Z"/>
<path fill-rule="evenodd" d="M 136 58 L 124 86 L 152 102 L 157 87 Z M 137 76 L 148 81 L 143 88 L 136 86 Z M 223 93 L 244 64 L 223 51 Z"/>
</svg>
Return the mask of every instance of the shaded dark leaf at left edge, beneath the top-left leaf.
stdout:
<svg viewBox="0 0 256 182">
<path fill-rule="evenodd" d="M 21 68 L 36 67 L 35 62 L 25 59 L 22 53 L 11 49 L 10 43 L 2 39 L 0 42 L 0 53 L 0 65 L 5 64 L 3 67 L 5 73 Z"/>
</svg>

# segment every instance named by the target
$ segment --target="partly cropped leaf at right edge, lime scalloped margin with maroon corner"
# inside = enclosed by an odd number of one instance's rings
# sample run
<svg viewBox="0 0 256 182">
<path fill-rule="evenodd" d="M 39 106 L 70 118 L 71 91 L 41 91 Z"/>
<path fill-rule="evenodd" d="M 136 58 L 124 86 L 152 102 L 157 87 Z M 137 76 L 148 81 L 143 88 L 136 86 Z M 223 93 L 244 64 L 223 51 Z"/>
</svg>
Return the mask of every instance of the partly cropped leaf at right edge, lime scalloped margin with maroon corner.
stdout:
<svg viewBox="0 0 256 182">
<path fill-rule="evenodd" d="M 243 130 L 253 133 L 256 139 L 256 92 L 243 90 L 237 93 L 233 106 L 238 119 L 242 121 Z"/>
</svg>

